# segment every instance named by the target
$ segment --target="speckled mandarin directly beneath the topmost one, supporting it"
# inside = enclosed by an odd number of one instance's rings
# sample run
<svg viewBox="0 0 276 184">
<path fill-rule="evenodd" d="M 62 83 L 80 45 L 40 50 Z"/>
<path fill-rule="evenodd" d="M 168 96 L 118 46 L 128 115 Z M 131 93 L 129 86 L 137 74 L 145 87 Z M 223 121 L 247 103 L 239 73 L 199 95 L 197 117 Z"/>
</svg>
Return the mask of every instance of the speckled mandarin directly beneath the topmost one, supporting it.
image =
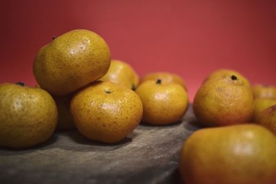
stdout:
<svg viewBox="0 0 276 184">
<path fill-rule="evenodd" d="M 117 143 L 139 125 L 143 106 L 132 90 L 96 81 L 73 96 L 70 110 L 79 132 L 93 141 Z"/>
</svg>

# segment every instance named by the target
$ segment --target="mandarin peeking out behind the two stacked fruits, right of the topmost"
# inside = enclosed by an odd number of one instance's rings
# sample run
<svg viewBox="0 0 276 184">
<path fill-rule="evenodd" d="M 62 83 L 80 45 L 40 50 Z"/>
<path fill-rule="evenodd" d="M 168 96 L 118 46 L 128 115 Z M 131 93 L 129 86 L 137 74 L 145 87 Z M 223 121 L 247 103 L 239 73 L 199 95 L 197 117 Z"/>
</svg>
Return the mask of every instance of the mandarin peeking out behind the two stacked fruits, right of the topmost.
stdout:
<svg viewBox="0 0 276 184">
<path fill-rule="evenodd" d="M 139 83 L 139 76 L 128 63 L 113 59 L 108 72 L 99 80 L 119 83 L 135 90 Z"/>
</svg>

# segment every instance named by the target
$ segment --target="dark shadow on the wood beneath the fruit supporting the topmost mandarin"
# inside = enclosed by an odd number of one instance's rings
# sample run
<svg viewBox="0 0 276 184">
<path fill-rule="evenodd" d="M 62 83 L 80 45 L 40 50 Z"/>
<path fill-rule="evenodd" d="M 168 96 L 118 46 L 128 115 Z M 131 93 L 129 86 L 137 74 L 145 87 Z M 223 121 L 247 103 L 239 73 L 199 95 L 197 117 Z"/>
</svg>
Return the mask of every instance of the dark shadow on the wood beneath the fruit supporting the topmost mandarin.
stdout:
<svg viewBox="0 0 276 184">
<path fill-rule="evenodd" d="M 56 147 L 62 150 L 78 151 L 78 152 L 108 152 L 117 150 L 132 142 L 129 136 L 126 136 L 118 143 L 101 143 L 92 141 L 82 136 L 78 131 L 70 131 L 58 133 L 63 136 L 62 143 L 57 144 Z M 132 135 L 133 137 L 133 135 Z"/>
</svg>

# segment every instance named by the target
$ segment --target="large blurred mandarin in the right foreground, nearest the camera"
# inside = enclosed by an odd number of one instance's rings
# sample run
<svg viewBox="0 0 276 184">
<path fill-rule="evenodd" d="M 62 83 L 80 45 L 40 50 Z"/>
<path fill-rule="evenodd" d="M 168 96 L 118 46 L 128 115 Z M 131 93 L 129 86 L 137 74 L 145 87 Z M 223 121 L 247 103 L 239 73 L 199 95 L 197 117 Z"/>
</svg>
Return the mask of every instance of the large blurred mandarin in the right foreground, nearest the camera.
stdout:
<svg viewBox="0 0 276 184">
<path fill-rule="evenodd" d="M 276 137 L 259 125 L 194 132 L 181 148 L 185 184 L 274 184 Z"/>
</svg>

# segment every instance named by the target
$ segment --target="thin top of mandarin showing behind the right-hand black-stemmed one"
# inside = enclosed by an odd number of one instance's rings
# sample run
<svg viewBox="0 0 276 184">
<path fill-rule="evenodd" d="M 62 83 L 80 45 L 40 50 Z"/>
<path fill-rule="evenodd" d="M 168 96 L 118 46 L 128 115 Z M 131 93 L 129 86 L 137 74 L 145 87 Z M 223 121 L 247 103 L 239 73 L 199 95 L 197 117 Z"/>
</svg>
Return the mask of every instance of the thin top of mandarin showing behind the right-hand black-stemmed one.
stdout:
<svg viewBox="0 0 276 184">
<path fill-rule="evenodd" d="M 219 69 L 219 70 L 215 70 L 215 72 L 212 72 L 211 74 L 209 74 L 205 81 L 208 81 L 209 79 L 215 79 L 215 78 L 224 78 L 226 76 L 237 76 L 238 79 L 241 79 L 244 82 L 244 85 L 247 85 L 248 87 L 250 87 L 250 82 L 248 81 L 248 79 L 246 79 L 246 77 L 244 77 L 242 74 L 240 74 L 239 72 L 235 71 L 235 70 L 229 70 L 229 69 Z"/>
</svg>

